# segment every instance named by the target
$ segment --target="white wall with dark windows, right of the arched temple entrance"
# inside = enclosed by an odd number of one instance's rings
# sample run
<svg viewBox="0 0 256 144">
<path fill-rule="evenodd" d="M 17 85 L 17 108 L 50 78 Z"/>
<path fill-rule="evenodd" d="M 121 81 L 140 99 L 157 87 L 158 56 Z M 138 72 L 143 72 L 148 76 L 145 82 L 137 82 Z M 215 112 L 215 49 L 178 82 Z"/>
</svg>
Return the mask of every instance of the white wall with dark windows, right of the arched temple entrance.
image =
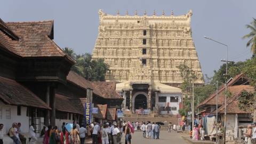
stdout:
<svg viewBox="0 0 256 144">
<path fill-rule="evenodd" d="M 181 94 L 177 93 L 158 93 L 158 97 L 166 97 L 166 102 L 170 102 L 171 98 L 170 97 L 178 97 L 179 101 L 178 102 L 171 102 L 170 107 L 177 107 L 177 110 L 171 110 L 169 111 L 169 115 L 177 115 L 179 114 L 179 102 L 181 102 Z M 166 102 L 158 102 L 159 107 L 165 107 Z M 163 115 L 167 115 L 167 111 L 161 111 Z"/>
</svg>

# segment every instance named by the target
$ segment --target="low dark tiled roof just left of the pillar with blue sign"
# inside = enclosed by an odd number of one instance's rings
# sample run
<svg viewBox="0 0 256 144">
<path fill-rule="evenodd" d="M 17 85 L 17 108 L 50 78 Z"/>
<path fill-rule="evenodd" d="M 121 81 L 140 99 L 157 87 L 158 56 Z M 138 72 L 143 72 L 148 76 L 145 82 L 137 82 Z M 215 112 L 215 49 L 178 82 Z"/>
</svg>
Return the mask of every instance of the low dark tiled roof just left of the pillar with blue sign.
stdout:
<svg viewBox="0 0 256 144">
<path fill-rule="evenodd" d="M 83 115 L 83 111 L 81 111 L 81 109 L 77 109 L 77 106 L 75 106 L 70 98 L 61 94 L 55 94 L 55 107 L 59 111 Z"/>
</svg>

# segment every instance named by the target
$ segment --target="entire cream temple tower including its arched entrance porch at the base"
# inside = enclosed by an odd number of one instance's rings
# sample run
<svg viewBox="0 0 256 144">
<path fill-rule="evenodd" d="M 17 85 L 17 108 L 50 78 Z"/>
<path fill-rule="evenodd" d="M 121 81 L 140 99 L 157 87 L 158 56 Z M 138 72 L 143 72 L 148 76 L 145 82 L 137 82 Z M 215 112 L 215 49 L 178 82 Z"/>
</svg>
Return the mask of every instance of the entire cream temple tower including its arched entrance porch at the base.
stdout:
<svg viewBox="0 0 256 144">
<path fill-rule="evenodd" d="M 191 36 L 191 15 L 111 15 L 99 10 L 99 34 L 92 58 L 109 65 L 106 80 L 117 82 L 124 109 L 154 108 L 161 114 L 178 114 L 183 79 L 178 67 L 186 65 L 204 84 Z"/>
</svg>

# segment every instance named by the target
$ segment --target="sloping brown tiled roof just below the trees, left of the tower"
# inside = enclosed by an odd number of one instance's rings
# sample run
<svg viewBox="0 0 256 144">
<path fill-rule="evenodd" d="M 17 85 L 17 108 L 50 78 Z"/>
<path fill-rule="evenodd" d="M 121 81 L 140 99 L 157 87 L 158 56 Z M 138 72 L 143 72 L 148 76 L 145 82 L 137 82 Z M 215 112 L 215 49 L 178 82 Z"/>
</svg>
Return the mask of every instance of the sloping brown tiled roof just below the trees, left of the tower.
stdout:
<svg viewBox="0 0 256 144">
<path fill-rule="evenodd" d="M 87 81 L 84 77 L 78 75 L 75 71 L 70 70 L 67 76 L 67 81 L 73 83 L 83 89 L 92 88 L 90 81 Z"/>
</svg>

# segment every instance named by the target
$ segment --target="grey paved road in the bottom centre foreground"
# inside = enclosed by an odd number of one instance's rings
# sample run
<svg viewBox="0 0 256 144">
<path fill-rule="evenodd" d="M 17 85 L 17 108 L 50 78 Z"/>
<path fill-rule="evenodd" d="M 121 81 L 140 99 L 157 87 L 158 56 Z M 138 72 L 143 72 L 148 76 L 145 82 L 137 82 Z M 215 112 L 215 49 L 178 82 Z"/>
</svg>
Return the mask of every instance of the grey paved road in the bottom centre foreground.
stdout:
<svg viewBox="0 0 256 144">
<path fill-rule="evenodd" d="M 181 134 L 177 132 L 170 132 L 161 131 L 160 132 L 160 139 L 145 139 L 142 137 L 142 132 L 137 131 L 132 134 L 132 144 L 165 144 L 165 143 L 178 143 L 178 144 L 187 144 L 188 142 L 181 138 Z M 122 138 L 122 143 L 124 142 L 124 137 Z"/>
</svg>

